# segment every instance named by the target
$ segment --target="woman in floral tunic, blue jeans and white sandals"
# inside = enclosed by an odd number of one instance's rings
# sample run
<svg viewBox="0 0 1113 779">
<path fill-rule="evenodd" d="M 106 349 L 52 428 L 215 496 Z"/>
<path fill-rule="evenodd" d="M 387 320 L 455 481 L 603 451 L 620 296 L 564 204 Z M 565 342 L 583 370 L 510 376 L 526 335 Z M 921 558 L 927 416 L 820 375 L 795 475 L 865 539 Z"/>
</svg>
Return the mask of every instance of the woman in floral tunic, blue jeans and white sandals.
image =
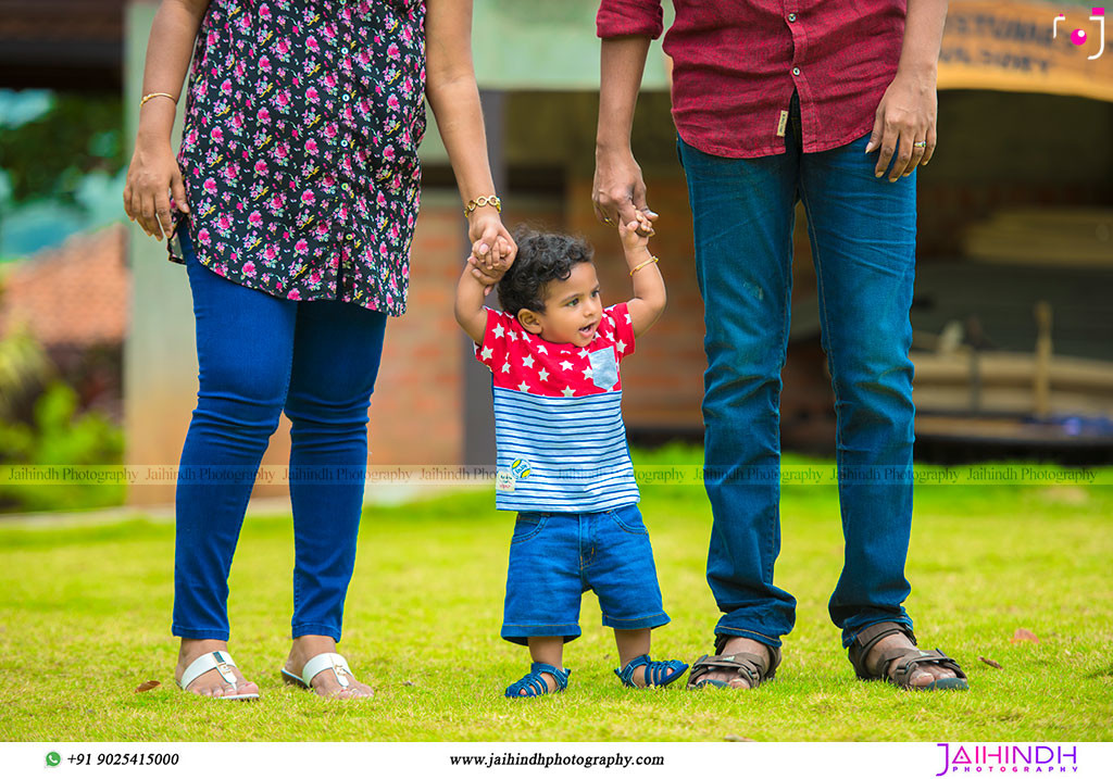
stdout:
<svg viewBox="0 0 1113 779">
<path fill-rule="evenodd" d="M 516 250 L 487 165 L 471 13 L 460 0 L 164 0 L 155 17 L 124 205 L 170 238 L 194 297 L 199 392 L 178 479 L 173 622 L 185 690 L 258 697 L 227 651 L 227 580 L 285 413 L 295 569 L 282 674 L 323 696 L 372 692 L 335 650 L 367 406 L 386 318 L 405 310 L 424 97 L 466 204 L 473 273 L 498 280 Z"/>
</svg>

